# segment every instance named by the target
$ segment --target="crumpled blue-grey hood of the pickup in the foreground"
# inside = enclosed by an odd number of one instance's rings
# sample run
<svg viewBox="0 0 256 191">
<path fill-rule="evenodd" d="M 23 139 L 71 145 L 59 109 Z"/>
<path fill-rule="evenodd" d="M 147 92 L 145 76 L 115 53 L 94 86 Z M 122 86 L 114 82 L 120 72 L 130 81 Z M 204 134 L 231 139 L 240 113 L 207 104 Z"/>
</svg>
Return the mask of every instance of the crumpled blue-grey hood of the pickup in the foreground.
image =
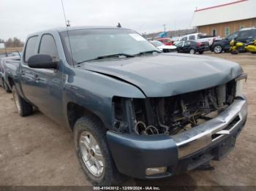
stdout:
<svg viewBox="0 0 256 191">
<path fill-rule="evenodd" d="M 177 53 L 104 59 L 84 63 L 80 69 L 129 82 L 147 97 L 166 97 L 214 87 L 243 72 L 238 63 Z"/>
</svg>

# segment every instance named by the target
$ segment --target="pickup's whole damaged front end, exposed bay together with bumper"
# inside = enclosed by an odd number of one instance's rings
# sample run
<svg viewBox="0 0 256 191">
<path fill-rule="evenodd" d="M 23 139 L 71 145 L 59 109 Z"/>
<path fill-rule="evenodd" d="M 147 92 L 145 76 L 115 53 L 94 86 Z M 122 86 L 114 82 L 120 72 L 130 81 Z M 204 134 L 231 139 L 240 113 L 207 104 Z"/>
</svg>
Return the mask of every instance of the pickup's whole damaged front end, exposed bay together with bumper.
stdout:
<svg viewBox="0 0 256 191">
<path fill-rule="evenodd" d="M 118 171 L 162 178 L 227 155 L 246 122 L 245 79 L 165 98 L 113 98 L 107 138 Z"/>
</svg>

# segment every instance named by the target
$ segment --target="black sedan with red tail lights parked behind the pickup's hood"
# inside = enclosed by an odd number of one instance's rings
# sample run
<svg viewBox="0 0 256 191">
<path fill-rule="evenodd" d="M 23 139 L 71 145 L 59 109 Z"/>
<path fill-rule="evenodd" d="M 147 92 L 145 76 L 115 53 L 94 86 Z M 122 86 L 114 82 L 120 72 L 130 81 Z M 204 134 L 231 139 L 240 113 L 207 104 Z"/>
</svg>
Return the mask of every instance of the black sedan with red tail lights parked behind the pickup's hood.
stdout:
<svg viewBox="0 0 256 191">
<path fill-rule="evenodd" d="M 208 42 L 183 41 L 176 44 L 177 52 L 195 54 L 203 54 L 210 50 Z"/>
</svg>

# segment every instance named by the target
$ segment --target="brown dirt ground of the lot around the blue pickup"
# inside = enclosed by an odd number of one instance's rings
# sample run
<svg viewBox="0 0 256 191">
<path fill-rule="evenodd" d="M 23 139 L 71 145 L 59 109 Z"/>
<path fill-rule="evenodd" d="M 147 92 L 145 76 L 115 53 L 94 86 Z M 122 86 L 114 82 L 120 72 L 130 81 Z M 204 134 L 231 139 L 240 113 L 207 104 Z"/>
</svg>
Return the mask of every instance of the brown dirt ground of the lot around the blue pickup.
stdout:
<svg viewBox="0 0 256 191">
<path fill-rule="evenodd" d="M 214 171 L 190 171 L 168 179 L 128 179 L 124 185 L 256 185 L 256 55 L 205 55 L 241 64 L 249 79 L 246 128 L 236 148 L 222 161 L 211 162 Z M 12 94 L 0 88 L 0 185 L 90 185 L 75 156 L 72 133 L 40 112 L 19 117 Z"/>
</svg>

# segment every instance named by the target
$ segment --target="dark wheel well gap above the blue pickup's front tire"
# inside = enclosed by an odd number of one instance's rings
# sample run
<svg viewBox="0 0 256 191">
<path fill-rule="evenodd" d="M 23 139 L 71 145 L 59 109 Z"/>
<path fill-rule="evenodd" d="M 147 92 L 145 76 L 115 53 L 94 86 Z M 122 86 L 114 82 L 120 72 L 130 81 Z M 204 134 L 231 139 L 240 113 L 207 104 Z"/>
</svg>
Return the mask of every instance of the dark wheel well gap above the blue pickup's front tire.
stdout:
<svg viewBox="0 0 256 191">
<path fill-rule="evenodd" d="M 102 120 L 100 120 L 96 114 L 89 111 L 89 109 L 74 103 L 67 104 L 67 119 L 69 120 L 69 127 L 71 130 L 73 130 L 75 122 L 83 116 L 89 116 L 94 118 L 94 120 L 98 120 L 102 123 L 102 127 L 104 127 Z"/>
</svg>

